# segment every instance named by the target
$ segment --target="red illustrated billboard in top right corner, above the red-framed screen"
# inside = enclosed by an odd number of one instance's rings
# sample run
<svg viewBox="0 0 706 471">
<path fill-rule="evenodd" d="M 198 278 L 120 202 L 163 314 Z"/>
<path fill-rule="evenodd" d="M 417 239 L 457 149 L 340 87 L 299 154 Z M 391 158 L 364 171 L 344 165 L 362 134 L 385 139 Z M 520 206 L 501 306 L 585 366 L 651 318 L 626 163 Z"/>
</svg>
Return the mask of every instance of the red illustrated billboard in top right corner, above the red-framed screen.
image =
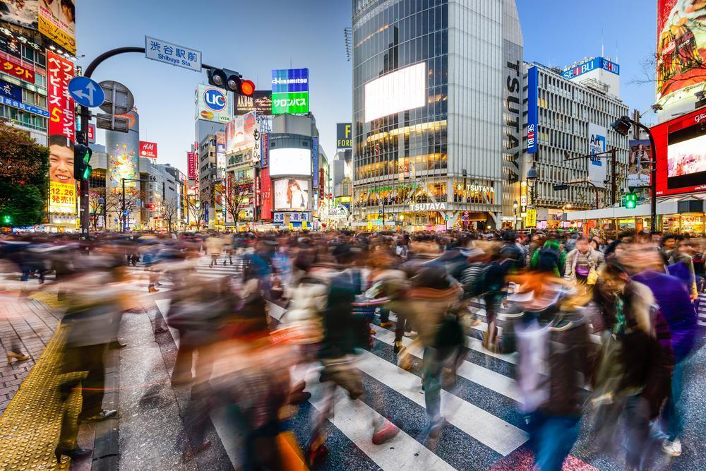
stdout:
<svg viewBox="0 0 706 471">
<path fill-rule="evenodd" d="M 705 81 L 706 4 L 657 1 L 657 100 Z"/>
</svg>

